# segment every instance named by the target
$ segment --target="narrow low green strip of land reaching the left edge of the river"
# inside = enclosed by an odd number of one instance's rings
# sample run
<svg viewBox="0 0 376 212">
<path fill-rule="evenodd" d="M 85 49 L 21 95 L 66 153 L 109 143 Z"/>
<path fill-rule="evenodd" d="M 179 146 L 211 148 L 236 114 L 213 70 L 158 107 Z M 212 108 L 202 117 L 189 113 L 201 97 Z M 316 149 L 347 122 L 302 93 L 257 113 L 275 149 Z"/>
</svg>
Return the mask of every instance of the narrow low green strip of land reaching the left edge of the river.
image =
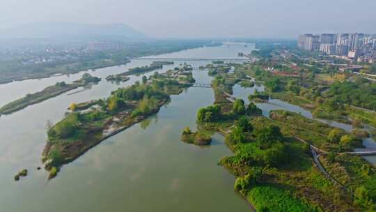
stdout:
<svg viewBox="0 0 376 212">
<path fill-rule="evenodd" d="M 24 96 L 23 98 L 4 105 L 0 108 L 0 114 L 11 114 L 13 112 L 24 109 L 29 105 L 41 103 L 42 101 L 58 96 L 61 93 L 77 89 L 78 87 L 85 86 L 88 83 L 97 83 L 99 81 L 100 78 L 93 77 L 90 74 L 85 73 L 84 75 L 82 75 L 81 79 L 75 81 L 72 84 L 66 84 L 65 82 L 56 82 L 56 84 L 54 84 L 53 86 L 48 86 L 42 91 L 26 94 L 26 96 Z"/>
</svg>

